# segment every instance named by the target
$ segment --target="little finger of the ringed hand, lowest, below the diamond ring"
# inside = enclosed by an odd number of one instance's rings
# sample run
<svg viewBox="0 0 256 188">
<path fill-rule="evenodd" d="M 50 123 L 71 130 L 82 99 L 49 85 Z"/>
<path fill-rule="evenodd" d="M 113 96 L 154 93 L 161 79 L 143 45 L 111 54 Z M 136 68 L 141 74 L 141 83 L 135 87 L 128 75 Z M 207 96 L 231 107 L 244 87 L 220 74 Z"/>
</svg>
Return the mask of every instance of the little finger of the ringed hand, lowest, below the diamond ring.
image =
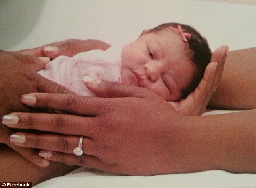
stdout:
<svg viewBox="0 0 256 188">
<path fill-rule="evenodd" d="M 78 165 L 78 166 L 84 166 L 88 168 L 96 168 L 98 170 L 104 169 L 104 166 L 101 160 L 92 155 L 76 156 L 74 154 L 61 153 L 61 152 L 52 152 L 49 155 L 48 151 L 43 151 L 42 153 L 44 152 L 46 153 L 46 157 L 44 158 L 50 161 L 61 162 L 67 165 Z"/>
</svg>

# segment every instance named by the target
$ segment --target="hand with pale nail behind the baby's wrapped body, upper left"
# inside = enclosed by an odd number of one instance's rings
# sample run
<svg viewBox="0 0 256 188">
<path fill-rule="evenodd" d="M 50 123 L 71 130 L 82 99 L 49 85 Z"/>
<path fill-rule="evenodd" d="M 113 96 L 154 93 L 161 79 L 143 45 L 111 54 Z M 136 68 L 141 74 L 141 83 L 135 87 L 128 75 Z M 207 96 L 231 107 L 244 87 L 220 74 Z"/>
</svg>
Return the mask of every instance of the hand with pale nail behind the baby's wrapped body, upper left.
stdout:
<svg viewBox="0 0 256 188">
<path fill-rule="evenodd" d="M 80 39 L 67 39 L 61 42 L 50 43 L 42 47 L 34 49 L 25 49 L 17 51 L 25 55 L 33 55 L 36 57 L 50 57 L 54 59 L 60 55 L 72 57 L 82 51 L 90 51 L 93 49 L 107 50 L 111 45 L 94 39 L 80 40 Z"/>
</svg>

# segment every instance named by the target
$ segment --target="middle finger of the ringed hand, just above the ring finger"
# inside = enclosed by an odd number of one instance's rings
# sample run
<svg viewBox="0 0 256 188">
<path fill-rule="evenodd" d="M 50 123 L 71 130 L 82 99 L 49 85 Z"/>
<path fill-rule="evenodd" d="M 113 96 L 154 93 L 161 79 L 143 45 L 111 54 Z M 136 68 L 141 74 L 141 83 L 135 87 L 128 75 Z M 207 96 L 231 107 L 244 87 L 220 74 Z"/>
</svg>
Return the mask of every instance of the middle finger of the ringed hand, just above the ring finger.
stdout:
<svg viewBox="0 0 256 188">
<path fill-rule="evenodd" d="M 37 113 L 11 113 L 5 115 L 2 123 L 16 129 L 34 129 L 61 134 L 80 135 L 86 130 L 88 137 L 94 137 L 97 120 L 90 117 L 73 116 L 67 114 L 37 114 Z M 93 126 L 93 127 L 92 127 Z"/>
</svg>

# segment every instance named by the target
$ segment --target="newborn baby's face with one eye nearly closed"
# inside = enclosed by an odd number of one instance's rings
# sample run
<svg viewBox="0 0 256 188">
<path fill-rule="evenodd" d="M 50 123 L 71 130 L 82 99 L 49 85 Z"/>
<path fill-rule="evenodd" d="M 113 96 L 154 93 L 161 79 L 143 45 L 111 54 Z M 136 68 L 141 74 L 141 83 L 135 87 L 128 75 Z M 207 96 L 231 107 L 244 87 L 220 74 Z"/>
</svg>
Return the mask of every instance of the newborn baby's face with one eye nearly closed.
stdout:
<svg viewBox="0 0 256 188">
<path fill-rule="evenodd" d="M 197 70 L 188 50 L 179 33 L 168 28 L 141 35 L 122 51 L 122 83 L 178 100 Z"/>
</svg>

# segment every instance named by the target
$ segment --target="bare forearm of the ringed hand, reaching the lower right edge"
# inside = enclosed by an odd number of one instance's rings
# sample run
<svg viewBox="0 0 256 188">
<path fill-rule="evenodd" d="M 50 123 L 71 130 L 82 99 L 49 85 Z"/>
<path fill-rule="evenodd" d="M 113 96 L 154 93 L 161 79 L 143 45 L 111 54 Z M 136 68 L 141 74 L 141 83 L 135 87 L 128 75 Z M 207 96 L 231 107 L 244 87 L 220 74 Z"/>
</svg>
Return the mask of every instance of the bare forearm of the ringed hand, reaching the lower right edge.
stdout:
<svg viewBox="0 0 256 188">
<path fill-rule="evenodd" d="M 256 173 L 256 110 L 192 118 L 187 157 L 196 160 L 191 168 Z"/>
</svg>

